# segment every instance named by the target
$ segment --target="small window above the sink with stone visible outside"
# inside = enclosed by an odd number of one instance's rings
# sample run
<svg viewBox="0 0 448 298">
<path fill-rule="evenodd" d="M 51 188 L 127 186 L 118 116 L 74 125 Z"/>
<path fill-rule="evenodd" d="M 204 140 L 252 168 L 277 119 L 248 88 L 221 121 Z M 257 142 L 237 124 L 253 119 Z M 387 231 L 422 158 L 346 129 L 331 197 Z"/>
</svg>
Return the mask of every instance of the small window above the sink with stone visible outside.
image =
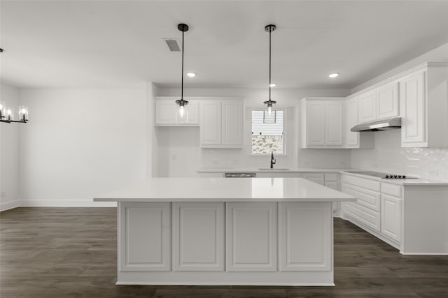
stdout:
<svg viewBox="0 0 448 298">
<path fill-rule="evenodd" d="M 252 154 L 283 154 L 283 111 L 252 111 Z"/>
</svg>

